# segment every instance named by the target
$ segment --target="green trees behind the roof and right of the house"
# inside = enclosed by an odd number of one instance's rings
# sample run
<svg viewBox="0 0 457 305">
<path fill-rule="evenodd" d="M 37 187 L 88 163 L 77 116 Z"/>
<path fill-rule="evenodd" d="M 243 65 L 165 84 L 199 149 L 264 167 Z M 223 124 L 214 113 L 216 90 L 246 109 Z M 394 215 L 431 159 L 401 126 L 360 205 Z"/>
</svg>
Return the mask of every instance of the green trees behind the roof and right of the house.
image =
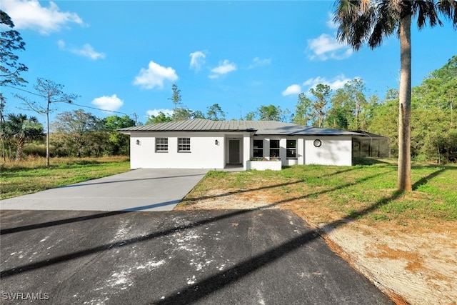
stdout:
<svg viewBox="0 0 457 305">
<path fill-rule="evenodd" d="M 146 124 L 183 119 L 224 120 L 219 104 L 203 111 L 193 111 L 182 103 L 181 91 L 173 85 L 174 113 L 150 116 Z M 416 161 L 438 164 L 457 161 L 457 56 L 439 69 L 431 71 L 419 86 L 411 90 L 411 156 Z M 304 126 L 368 131 L 388 136 L 391 154 L 398 156 L 397 89 L 388 89 L 385 96 L 367 94 L 363 79 L 352 79 L 341 89 L 332 90 L 318 84 L 308 92 L 298 94 L 295 108 L 261 105 L 241 119 L 246 121 L 290 121 Z"/>
</svg>

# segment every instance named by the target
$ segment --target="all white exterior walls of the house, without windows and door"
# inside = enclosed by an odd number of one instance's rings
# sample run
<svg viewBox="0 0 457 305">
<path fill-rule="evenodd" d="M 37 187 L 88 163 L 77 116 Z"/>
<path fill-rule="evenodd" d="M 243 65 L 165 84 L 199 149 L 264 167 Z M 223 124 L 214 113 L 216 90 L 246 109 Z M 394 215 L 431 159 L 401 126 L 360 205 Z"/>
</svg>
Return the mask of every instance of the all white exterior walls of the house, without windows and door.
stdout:
<svg viewBox="0 0 457 305">
<path fill-rule="evenodd" d="M 168 152 L 156 151 L 156 137 L 168 138 Z M 191 151 L 178 151 L 178 138 L 191 138 Z M 229 140 L 240 141 L 240 162 L 246 169 L 253 156 L 253 136 L 250 133 L 222 132 L 132 132 L 130 136 L 131 169 L 224 169 L 229 163 Z M 323 164 L 352 165 L 351 136 L 291 136 L 256 137 L 263 139 L 263 156 L 270 156 L 270 140 L 279 139 L 279 154 L 282 165 Z M 296 159 L 287 159 L 286 140 L 296 139 Z M 322 145 L 315 147 L 313 141 L 320 139 Z M 139 144 L 136 144 L 136 141 Z M 218 144 L 216 145 L 216 140 Z"/>
</svg>

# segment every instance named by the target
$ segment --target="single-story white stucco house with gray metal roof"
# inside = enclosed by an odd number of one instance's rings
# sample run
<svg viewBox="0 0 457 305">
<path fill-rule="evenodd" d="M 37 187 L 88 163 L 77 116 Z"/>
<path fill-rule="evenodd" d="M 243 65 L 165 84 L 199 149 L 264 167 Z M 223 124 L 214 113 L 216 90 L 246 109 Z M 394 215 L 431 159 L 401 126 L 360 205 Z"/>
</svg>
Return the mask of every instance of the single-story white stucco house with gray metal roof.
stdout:
<svg viewBox="0 0 457 305">
<path fill-rule="evenodd" d="M 190 119 L 119 129 L 130 135 L 131 169 L 249 169 L 251 159 L 281 165 L 352 165 L 353 131 L 278 121 Z"/>
</svg>

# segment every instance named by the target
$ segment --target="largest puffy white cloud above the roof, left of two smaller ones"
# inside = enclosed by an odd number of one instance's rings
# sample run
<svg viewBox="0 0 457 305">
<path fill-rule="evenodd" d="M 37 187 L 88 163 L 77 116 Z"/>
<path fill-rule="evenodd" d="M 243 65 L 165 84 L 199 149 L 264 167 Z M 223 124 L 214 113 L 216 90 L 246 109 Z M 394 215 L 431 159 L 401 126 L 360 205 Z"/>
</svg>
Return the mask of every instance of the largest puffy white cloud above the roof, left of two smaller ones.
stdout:
<svg viewBox="0 0 457 305">
<path fill-rule="evenodd" d="M 164 81 L 176 81 L 176 79 L 178 79 L 178 75 L 173 68 L 165 68 L 154 61 L 149 61 L 148 69 L 141 68 L 134 79 L 134 85 L 145 89 L 153 89 L 156 86 L 163 88 Z"/>
</svg>

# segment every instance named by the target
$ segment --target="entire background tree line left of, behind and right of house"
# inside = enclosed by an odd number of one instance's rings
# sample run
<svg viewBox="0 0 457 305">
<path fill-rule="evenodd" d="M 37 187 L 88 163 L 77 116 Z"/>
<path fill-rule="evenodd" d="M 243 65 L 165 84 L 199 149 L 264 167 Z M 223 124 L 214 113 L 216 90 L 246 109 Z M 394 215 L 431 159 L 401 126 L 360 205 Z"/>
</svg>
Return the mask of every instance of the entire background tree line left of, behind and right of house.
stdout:
<svg viewBox="0 0 457 305">
<path fill-rule="evenodd" d="M 11 57 L 11 56 L 10 56 Z M 3 60 L 3 59 L 2 59 Z M 6 65 L 4 65 L 6 66 Z M 17 66 L 14 73 L 26 71 Z M 13 77 L 13 72 L 1 81 L 3 84 L 24 83 Z M 4 114 L 6 99 L 1 95 L 0 140 L 1 156 L 5 160 L 19 160 L 23 155 L 39 156 L 106 156 L 129 155 L 129 136 L 116 129 L 141 124 L 129 116 L 98 118 L 78 109 L 56 115 L 49 122 L 49 114 L 59 103 L 72 103 L 76 94 L 66 94 L 64 86 L 47 79 L 37 79 L 34 86 L 38 100 L 20 94 L 29 109 L 46 115 L 46 128 L 35 116 Z M 171 114 L 160 112 L 151 115 L 146 124 L 181 121 L 184 119 L 225 120 L 226 113 L 219 104 L 206 107 L 206 111 L 191 110 L 182 102 L 181 90 L 173 84 L 169 98 L 174 104 Z M 431 71 L 420 86 L 412 88 L 411 156 L 417 161 L 437 163 L 457 159 L 456 129 L 457 56 L 453 56 L 440 69 Z M 391 139 L 391 153 L 398 156 L 398 91 L 388 89 L 382 98 L 367 94 L 363 79 L 352 79 L 341 89 L 332 90 L 318 84 L 297 96 L 296 106 L 290 111 L 281 106 L 261 105 L 240 119 L 251 121 L 291 121 L 304 126 L 369 131 Z M 44 145 L 46 144 L 46 147 Z"/>
</svg>

